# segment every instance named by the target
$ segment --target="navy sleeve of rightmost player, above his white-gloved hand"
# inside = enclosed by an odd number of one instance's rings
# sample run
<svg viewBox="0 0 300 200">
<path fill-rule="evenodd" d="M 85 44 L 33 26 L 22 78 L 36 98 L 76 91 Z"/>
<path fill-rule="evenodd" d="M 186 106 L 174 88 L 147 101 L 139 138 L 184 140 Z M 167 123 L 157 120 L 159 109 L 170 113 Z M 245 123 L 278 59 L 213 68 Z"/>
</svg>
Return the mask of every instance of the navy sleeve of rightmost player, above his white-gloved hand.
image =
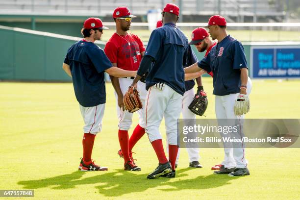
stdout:
<svg viewBox="0 0 300 200">
<path fill-rule="evenodd" d="M 244 47 L 240 42 L 235 42 L 233 45 L 233 69 L 247 68 L 246 54 Z"/>
</svg>

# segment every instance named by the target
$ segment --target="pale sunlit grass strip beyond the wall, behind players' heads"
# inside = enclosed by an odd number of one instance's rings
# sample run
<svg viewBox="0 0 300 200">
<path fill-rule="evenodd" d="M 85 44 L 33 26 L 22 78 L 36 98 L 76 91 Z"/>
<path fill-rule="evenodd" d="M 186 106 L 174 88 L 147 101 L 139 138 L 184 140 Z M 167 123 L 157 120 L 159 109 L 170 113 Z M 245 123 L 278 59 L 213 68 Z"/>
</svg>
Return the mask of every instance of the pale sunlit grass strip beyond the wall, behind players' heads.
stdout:
<svg viewBox="0 0 300 200">
<path fill-rule="evenodd" d="M 183 30 L 189 40 L 191 40 L 191 34 L 194 28 L 195 27 L 191 27 L 191 29 Z M 114 28 L 104 30 L 101 40 L 107 41 L 115 31 Z M 143 42 L 147 42 L 151 34 L 149 30 L 134 29 L 134 27 L 132 27 L 129 32 L 138 35 Z M 300 41 L 299 31 L 228 29 L 227 33 L 242 42 Z"/>
</svg>

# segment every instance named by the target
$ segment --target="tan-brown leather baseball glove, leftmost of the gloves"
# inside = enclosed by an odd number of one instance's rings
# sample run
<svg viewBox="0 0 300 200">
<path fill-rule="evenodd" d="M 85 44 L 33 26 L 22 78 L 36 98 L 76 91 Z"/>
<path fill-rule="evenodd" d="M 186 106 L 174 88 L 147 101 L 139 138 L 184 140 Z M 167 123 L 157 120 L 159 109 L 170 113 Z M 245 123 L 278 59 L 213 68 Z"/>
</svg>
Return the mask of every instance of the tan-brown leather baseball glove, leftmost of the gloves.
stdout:
<svg viewBox="0 0 300 200">
<path fill-rule="evenodd" d="M 130 113 L 133 113 L 143 108 L 143 104 L 140 100 L 139 92 L 133 86 L 129 86 L 127 92 L 124 95 L 123 101 L 124 101 L 125 109 L 128 110 L 128 112 Z"/>
</svg>

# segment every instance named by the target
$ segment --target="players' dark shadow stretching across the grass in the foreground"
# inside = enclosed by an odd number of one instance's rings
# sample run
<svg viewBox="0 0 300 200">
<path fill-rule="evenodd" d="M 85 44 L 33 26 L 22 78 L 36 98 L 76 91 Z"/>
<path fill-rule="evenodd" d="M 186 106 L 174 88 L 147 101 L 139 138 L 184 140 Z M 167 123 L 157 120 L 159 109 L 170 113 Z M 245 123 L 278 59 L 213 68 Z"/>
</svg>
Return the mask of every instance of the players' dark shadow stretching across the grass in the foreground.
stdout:
<svg viewBox="0 0 300 200">
<path fill-rule="evenodd" d="M 114 172 L 87 172 L 94 173 L 95 176 L 82 178 L 85 172 L 76 171 L 68 175 L 59 175 L 46 179 L 19 181 L 19 185 L 24 185 L 24 189 L 52 188 L 70 189 L 79 185 L 99 184 L 95 188 L 99 193 L 107 197 L 117 197 L 124 194 L 144 192 L 149 188 L 157 186 L 168 186 L 170 188 L 159 189 L 161 191 L 179 191 L 185 189 L 207 189 L 231 184 L 229 181 L 237 177 L 228 175 L 207 175 L 198 176 L 193 179 L 181 180 L 188 174 L 185 172 L 197 169 L 186 168 L 176 170 L 176 177 L 172 180 L 166 177 L 148 180 L 148 174 L 138 174 L 138 172 L 128 172 L 116 170 Z"/>
</svg>

